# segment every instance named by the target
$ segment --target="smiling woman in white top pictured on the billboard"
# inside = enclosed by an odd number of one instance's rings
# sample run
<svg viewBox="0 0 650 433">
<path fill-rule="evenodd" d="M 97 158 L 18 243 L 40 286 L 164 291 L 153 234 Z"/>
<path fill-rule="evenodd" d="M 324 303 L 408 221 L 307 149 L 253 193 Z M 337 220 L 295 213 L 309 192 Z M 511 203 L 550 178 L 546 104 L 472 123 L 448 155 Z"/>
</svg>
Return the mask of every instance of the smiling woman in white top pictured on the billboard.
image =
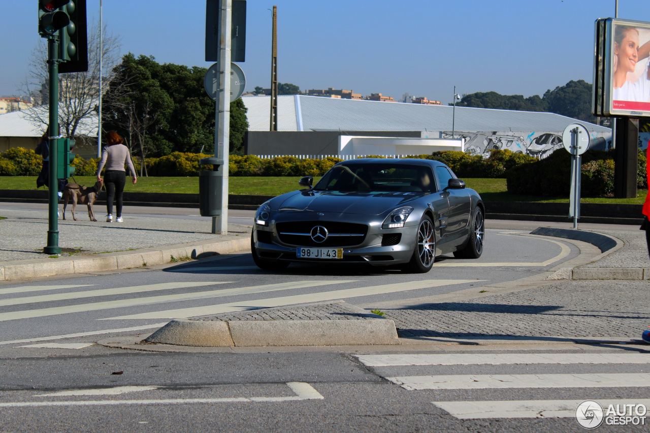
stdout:
<svg viewBox="0 0 650 433">
<path fill-rule="evenodd" d="M 627 79 L 627 73 L 636 69 L 639 60 L 650 55 L 650 41 L 640 46 L 639 31 L 629 25 L 614 27 L 614 85 L 615 101 L 650 101 L 650 77 L 648 69 L 636 81 Z"/>
</svg>

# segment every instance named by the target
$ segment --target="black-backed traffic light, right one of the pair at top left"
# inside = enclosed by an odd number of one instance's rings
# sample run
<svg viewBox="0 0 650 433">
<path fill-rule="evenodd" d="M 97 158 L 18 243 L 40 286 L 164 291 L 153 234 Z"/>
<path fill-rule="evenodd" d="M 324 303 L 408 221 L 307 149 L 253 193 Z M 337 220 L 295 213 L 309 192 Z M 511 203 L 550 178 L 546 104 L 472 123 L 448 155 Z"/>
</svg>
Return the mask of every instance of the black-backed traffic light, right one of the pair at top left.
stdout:
<svg viewBox="0 0 650 433">
<path fill-rule="evenodd" d="M 86 0 L 69 0 L 60 8 L 69 23 L 59 32 L 59 73 L 88 70 Z"/>
</svg>

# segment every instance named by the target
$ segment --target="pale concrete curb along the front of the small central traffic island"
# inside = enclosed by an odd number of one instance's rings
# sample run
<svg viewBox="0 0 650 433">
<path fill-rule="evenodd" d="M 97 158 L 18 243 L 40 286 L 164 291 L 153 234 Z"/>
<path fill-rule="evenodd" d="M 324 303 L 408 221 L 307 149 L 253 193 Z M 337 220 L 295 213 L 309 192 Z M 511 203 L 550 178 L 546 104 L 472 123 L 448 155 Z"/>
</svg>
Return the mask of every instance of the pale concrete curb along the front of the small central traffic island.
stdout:
<svg viewBox="0 0 650 433">
<path fill-rule="evenodd" d="M 175 319 L 142 341 L 194 347 L 398 345 L 389 319 L 190 321 Z"/>
</svg>

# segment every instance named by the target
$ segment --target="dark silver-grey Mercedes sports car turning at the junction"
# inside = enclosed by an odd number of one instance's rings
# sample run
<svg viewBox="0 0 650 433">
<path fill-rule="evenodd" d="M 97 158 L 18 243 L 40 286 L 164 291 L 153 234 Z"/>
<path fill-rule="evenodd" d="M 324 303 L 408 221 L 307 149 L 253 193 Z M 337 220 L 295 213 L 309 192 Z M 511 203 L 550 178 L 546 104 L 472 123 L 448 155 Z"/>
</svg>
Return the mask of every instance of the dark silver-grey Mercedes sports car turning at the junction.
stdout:
<svg viewBox="0 0 650 433">
<path fill-rule="evenodd" d="M 338 163 L 312 187 L 263 203 L 251 250 L 261 269 L 292 261 L 402 265 L 428 272 L 435 256 L 476 259 L 484 247 L 483 202 L 443 163 L 355 159 Z"/>
</svg>

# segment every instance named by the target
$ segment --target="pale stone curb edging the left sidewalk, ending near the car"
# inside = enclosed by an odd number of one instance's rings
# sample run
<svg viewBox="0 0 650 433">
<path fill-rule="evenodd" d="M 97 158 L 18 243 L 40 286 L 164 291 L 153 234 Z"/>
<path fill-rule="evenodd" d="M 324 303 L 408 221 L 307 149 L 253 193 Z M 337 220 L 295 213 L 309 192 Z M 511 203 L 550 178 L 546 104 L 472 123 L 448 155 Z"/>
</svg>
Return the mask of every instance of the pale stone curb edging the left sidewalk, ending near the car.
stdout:
<svg viewBox="0 0 650 433">
<path fill-rule="evenodd" d="M 26 259 L 8 261 L 0 265 L 0 281 L 27 280 L 65 274 L 83 274 L 106 270 L 141 268 L 144 266 L 170 263 L 174 257 L 203 257 L 217 254 L 230 254 L 250 248 L 250 239 L 244 237 L 224 237 L 219 241 L 175 244 L 164 247 L 142 248 L 92 256 L 59 257 L 57 259 Z"/>
</svg>

